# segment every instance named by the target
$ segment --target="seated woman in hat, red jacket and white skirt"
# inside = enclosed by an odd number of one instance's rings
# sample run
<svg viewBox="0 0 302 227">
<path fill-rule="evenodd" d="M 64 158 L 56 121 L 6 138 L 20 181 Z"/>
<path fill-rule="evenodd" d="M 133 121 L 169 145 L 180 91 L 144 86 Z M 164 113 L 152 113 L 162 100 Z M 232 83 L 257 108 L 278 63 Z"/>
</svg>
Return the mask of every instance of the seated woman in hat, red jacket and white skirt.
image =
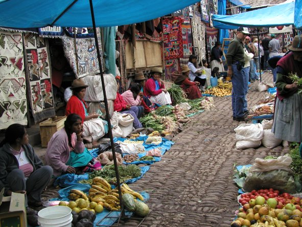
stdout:
<svg viewBox="0 0 302 227">
<path fill-rule="evenodd" d="M 161 68 L 155 67 L 151 70 L 151 78 L 146 82 L 144 94 L 150 98 L 153 103 L 164 106 L 172 104 L 172 101 L 170 94 L 167 89 L 165 89 L 164 81 L 160 79 L 161 74 Z"/>
</svg>

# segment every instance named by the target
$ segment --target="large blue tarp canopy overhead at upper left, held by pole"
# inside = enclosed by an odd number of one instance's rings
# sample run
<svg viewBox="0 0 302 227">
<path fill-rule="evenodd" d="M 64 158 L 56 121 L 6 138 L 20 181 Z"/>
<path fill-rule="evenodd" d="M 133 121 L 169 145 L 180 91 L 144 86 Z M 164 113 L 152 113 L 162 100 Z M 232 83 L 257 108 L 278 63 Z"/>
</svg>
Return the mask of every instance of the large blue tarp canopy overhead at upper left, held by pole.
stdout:
<svg viewBox="0 0 302 227">
<path fill-rule="evenodd" d="M 96 27 L 145 22 L 197 0 L 93 0 Z M 89 0 L 0 0 L 0 27 L 92 27 Z"/>
</svg>

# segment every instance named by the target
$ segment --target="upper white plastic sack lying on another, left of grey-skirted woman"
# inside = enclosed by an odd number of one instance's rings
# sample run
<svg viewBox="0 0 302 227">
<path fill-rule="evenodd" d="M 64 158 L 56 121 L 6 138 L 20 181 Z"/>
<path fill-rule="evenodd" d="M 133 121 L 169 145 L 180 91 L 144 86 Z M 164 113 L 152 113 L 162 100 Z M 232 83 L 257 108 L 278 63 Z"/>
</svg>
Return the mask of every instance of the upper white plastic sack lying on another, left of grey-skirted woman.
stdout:
<svg viewBox="0 0 302 227">
<path fill-rule="evenodd" d="M 261 140 L 263 137 L 263 127 L 261 123 L 243 123 L 234 129 L 236 140 Z"/>
</svg>

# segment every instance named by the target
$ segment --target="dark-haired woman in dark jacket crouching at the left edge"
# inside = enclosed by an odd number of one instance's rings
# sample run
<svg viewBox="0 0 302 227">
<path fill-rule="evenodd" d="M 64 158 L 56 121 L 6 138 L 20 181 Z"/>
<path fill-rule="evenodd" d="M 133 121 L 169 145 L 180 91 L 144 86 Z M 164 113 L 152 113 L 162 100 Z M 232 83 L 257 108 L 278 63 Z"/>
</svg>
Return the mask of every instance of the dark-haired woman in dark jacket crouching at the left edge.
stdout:
<svg viewBox="0 0 302 227">
<path fill-rule="evenodd" d="M 6 196 L 26 193 L 28 205 L 40 207 L 41 193 L 52 178 L 53 169 L 43 165 L 28 143 L 25 127 L 18 123 L 7 128 L 0 146 L 0 190 L 4 188 Z"/>
</svg>

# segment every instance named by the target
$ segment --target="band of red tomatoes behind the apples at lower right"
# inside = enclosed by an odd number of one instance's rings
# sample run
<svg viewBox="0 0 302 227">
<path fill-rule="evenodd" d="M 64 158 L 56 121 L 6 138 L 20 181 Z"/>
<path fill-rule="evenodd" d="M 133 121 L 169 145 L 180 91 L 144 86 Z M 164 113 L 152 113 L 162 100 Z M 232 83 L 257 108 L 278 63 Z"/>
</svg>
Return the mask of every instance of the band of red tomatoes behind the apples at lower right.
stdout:
<svg viewBox="0 0 302 227">
<path fill-rule="evenodd" d="M 249 203 L 251 199 L 257 198 L 257 196 L 262 196 L 267 201 L 269 198 L 275 198 L 278 202 L 277 208 L 282 209 L 287 203 L 293 203 L 297 205 L 302 205 L 302 201 L 298 197 L 293 197 L 288 193 L 280 194 L 278 190 L 273 189 L 260 189 L 258 191 L 253 190 L 250 193 L 241 194 L 238 200 L 241 205 Z M 253 200 L 252 200 L 253 201 Z"/>
</svg>

